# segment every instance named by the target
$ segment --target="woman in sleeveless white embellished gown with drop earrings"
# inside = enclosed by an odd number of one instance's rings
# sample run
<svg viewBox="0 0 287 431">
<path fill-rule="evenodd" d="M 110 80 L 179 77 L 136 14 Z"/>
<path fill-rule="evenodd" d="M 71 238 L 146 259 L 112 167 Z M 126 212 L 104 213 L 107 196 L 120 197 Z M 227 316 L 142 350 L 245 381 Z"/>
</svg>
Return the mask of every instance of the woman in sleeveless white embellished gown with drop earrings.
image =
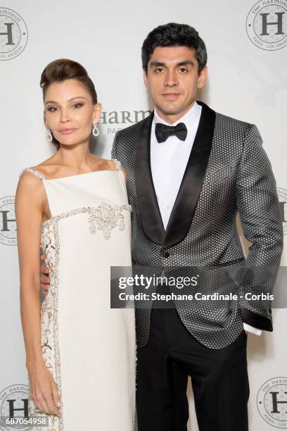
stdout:
<svg viewBox="0 0 287 431">
<path fill-rule="evenodd" d="M 101 104 L 82 65 L 49 63 L 41 87 L 58 151 L 23 171 L 15 203 L 30 416 L 49 415 L 45 430 L 133 430 L 134 310 L 110 309 L 110 266 L 131 266 L 125 172 L 89 151 Z"/>
</svg>

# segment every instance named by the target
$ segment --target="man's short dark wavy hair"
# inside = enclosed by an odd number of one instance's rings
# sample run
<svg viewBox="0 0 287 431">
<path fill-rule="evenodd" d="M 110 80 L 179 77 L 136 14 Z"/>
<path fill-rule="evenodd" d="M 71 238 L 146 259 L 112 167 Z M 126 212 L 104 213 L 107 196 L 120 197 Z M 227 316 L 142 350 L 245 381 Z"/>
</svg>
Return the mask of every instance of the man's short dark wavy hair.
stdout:
<svg viewBox="0 0 287 431">
<path fill-rule="evenodd" d="M 169 23 L 153 29 L 144 40 L 141 47 L 141 61 L 146 73 L 148 72 L 148 61 L 158 46 L 188 46 L 195 49 L 198 73 L 208 61 L 205 43 L 195 28 L 187 24 Z"/>
</svg>

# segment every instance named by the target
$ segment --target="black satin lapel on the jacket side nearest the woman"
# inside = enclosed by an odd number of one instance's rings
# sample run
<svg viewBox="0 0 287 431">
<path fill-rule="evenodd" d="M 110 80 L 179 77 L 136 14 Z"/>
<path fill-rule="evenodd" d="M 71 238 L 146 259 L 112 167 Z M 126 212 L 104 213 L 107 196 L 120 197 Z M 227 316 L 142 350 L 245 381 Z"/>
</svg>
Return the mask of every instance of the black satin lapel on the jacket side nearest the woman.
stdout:
<svg viewBox="0 0 287 431">
<path fill-rule="evenodd" d="M 153 242 L 162 244 L 165 229 L 162 224 L 160 208 L 153 186 L 151 175 L 151 125 L 153 113 L 144 120 L 139 135 L 139 146 L 136 149 L 134 177 L 136 196 L 141 213 L 141 223 L 146 236 Z"/>
</svg>

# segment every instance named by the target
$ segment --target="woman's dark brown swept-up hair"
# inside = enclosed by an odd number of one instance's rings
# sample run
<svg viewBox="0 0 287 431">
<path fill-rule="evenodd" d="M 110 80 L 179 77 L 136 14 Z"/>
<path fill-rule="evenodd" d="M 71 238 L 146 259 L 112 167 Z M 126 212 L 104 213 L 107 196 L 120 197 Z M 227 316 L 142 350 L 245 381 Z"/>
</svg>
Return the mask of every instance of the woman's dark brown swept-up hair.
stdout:
<svg viewBox="0 0 287 431">
<path fill-rule="evenodd" d="M 43 90 L 43 100 L 45 99 L 46 89 L 50 84 L 71 79 L 82 82 L 91 95 L 93 104 L 98 103 L 96 89 L 87 70 L 81 64 L 77 63 L 77 61 L 68 60 L 67 58 L 59 58 L 58 60 L 51 61 L 51 63 L 44 68 L 40 80 L 40 86 Z M 54 137 L 52 143 L 56 144 L 58 148 L 60 147 L 60 143 Z"/>
</svg>

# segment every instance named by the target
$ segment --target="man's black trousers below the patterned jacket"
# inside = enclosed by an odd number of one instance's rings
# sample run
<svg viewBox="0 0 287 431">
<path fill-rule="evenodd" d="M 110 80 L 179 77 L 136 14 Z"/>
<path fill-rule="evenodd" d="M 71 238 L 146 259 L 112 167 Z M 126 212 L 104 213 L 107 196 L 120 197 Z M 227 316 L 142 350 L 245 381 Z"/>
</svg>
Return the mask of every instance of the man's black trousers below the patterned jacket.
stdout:
<svg viewBox="0 0 287 431">
<path fill-rule="evenodd" d="M 248 371 L 243 330 L 223 349 L 208 349 L 174 308 L 153 308 L 148 344 L 138 349 L 139 431 L 186 431 L 191 376 L 200 431 L 248 431 Z"/>
</svg>

